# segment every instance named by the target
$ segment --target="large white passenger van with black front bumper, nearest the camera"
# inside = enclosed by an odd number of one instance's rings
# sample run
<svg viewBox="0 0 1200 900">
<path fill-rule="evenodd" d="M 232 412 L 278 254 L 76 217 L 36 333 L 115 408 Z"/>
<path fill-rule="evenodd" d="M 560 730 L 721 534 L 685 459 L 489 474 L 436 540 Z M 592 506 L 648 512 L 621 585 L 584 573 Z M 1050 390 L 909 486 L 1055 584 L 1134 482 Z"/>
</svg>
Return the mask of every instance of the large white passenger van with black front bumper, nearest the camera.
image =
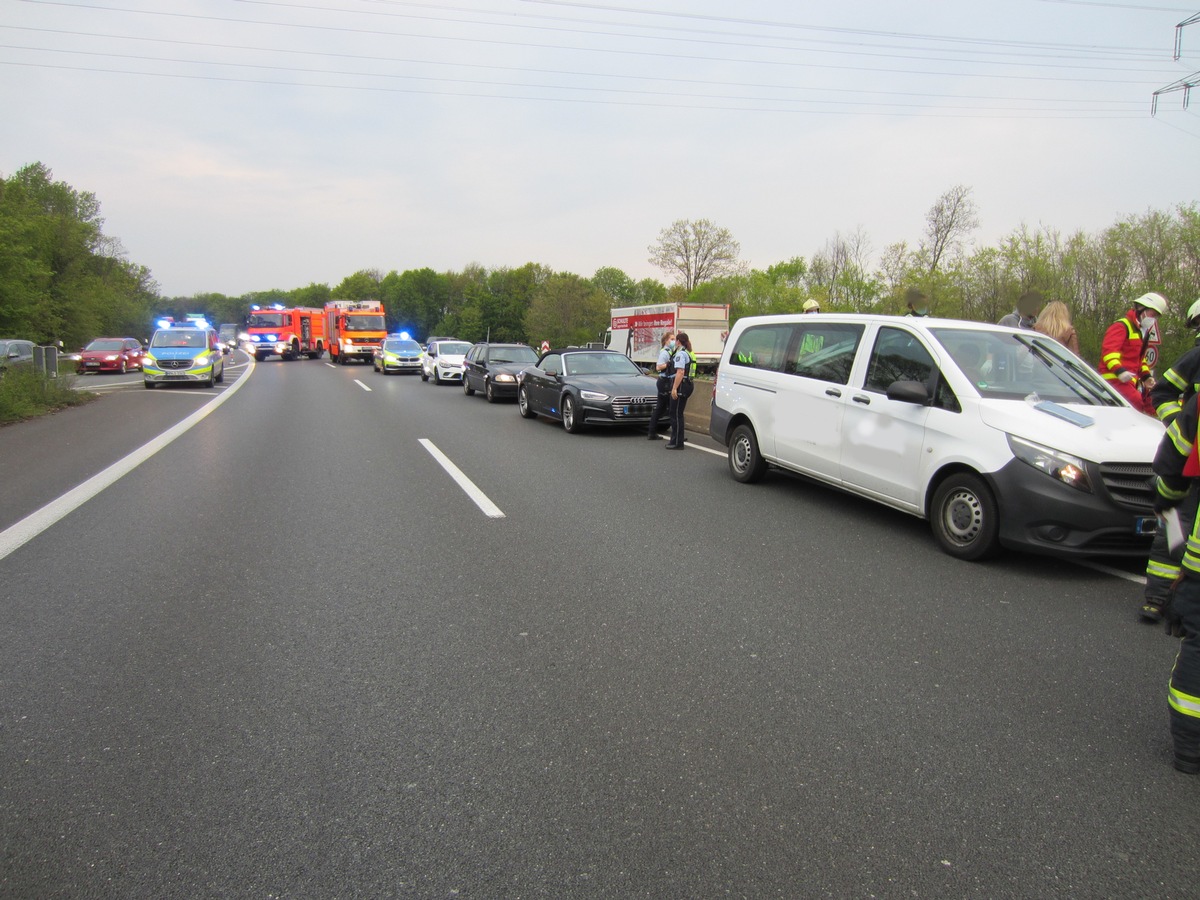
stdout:
<svg viewBox="0 0 1200 900">
<path fill-rule="evenodd" d="M 1145 556 L 1163 426 L 1056 341 L 958 319 L 737 322 L 709 433 L 730 473 L 800 473 L 928 518 L 942 548 Z"/>
</svg>

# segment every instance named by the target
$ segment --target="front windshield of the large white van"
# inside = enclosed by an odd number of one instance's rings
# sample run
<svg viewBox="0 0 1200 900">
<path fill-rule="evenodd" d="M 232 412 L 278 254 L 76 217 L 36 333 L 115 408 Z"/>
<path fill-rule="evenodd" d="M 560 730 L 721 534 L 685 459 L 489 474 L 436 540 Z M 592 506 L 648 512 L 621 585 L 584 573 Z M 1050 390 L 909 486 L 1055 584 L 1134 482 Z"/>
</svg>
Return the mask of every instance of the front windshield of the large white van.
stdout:
<svg viewBox="0 0 1200 900">
<path fill-rule="evenodd" d="M 980 397 L 1120 406 L 1091 366 L 1050 337 L 948 328 L 932 332 Z"/>
</svg>

